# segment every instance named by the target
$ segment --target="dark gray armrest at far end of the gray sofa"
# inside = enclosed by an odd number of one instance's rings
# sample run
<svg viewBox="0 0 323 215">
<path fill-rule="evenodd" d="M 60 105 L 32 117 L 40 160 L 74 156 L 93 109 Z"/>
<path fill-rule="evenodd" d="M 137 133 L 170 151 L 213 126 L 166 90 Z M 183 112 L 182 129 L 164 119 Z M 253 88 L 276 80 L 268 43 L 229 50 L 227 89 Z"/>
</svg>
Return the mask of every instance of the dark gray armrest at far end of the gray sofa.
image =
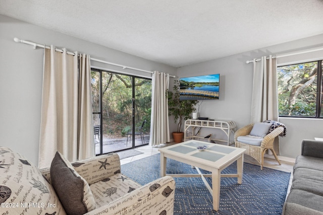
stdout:
<svg viewBox="0 0 323 215">
<path fill-rule="evenodd" d="M 301 155 L 323 158 L 323 141 L 303 139 Z"/>
</svg>

